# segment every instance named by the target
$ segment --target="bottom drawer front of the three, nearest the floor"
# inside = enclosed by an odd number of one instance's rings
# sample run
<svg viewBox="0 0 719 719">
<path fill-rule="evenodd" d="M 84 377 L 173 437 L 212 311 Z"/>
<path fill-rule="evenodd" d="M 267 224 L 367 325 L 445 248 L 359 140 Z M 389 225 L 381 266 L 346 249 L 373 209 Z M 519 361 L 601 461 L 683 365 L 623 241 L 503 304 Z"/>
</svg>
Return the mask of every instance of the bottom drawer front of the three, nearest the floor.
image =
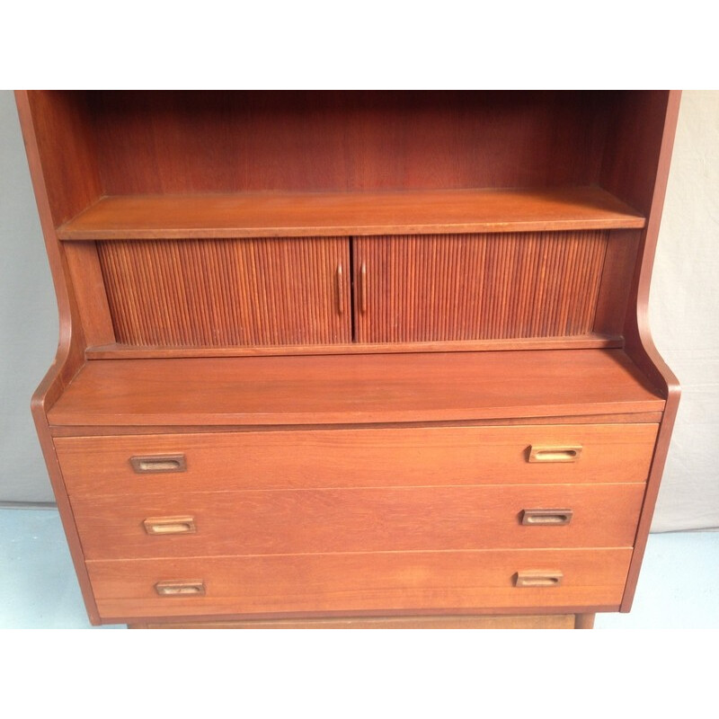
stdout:
<svg viewBox="0 0 719 719">
<path fill-rule="evenodd" d="M 297 612 L 617 610 L 631 555 L 630 548 L 522 549 L 135 559 L 90 561 L 87 567 L 102 619 L 123 621 Z M 168 593 L 159 594 L 158 584 Z"/>
</svg>

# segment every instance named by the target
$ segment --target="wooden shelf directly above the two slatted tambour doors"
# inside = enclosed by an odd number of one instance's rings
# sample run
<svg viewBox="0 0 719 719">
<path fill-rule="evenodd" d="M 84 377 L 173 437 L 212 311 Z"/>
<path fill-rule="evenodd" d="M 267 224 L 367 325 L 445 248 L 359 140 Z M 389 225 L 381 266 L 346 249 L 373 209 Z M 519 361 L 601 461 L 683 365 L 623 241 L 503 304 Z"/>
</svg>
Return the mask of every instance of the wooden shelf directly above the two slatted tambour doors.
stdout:
<svg viewBox="0 0 719 719">
<path fill-rule="evenodd" d="M 597 187 L 104 197 L 61 240 L 534 232 L 644 227 Z"/>
</svg>

